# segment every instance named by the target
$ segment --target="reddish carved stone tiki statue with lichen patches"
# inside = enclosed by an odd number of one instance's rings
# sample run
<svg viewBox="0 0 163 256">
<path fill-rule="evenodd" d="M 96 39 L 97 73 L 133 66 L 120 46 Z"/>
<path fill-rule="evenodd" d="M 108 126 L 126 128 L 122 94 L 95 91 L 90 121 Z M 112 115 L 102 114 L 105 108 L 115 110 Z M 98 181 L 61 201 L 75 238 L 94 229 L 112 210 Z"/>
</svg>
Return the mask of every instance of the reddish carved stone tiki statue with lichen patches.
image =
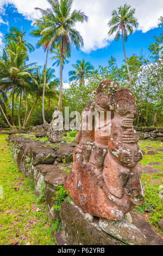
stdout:
<svg viewBox="0 0 163 256">
<path fill-rule="evenodd" d="M 135 205 L 143 204 L 138 163 L 142 153 L 133 129 L 135 107 L 129 89 L 106 80 L 99 84 L 97 92 L 92 92 L 82 112 L 78 145 L 73 151 L 73 167 L 66 176 L 65 189 L 92 216 L 121 220 Z M 92 113 L 98 115 L 92 118 L 92 129 L 88 129 L 87 120 Z M 99 113 L 103 113 L 103 118 Z"/>
</svg>

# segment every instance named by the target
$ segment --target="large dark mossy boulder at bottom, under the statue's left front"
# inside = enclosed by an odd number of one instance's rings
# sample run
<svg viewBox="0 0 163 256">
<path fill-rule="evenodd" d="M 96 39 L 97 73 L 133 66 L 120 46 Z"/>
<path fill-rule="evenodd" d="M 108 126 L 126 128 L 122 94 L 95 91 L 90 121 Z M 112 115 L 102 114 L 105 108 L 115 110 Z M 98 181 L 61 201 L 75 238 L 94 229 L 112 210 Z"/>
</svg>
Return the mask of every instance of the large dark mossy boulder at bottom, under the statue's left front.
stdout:
<svg viewBox="0 0 163 256">
<path fill-rule="evenodd" d="M 67 245 L 121 245 L 114 237 L 106 234 L 97 218 L 90 222 L 84 211 L 75 203 L 61 203 L 60 217 L 65 231 Z"/>
</svg>

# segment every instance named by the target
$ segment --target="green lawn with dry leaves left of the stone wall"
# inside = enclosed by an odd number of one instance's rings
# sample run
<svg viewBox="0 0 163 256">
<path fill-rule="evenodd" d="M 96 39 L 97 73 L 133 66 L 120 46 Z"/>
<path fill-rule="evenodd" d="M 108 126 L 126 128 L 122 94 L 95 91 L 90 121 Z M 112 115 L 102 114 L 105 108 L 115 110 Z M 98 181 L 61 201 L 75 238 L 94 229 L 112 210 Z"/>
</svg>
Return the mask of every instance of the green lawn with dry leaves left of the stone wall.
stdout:
<svg viewBox="0 0 163 256">
<path fill-rule="evenodd" d="M 36 203 L 34 186 L 18 172 L 6 137 L 0 135 L 0 245 L 55 245 L 47 206 Z"/>
</svg>

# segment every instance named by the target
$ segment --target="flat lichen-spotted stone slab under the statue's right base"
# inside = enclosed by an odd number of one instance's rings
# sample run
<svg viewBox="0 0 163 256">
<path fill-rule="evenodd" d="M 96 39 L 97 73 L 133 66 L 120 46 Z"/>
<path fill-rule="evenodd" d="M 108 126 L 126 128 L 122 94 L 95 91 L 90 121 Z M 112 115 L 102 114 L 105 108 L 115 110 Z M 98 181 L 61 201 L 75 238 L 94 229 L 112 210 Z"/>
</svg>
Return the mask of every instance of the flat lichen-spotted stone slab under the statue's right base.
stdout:
<svg viewBox="0 0 163 256">
<path fill-rule="evenodd" d="M 121 221 L 110 221 L 106 218 L 100 218 L 99 227 L 117 239 L 129 243 L 129 245 L 147 244 L 146 236 L 126 218 L 123 218 Z"/>
</svg>

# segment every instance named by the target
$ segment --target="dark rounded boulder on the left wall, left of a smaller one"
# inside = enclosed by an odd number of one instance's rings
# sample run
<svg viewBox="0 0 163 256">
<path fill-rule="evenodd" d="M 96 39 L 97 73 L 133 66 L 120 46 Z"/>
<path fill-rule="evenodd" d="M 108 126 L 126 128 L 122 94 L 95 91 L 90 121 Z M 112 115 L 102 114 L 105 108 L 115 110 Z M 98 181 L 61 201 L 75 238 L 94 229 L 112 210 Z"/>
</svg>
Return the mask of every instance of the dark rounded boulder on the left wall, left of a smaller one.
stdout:
<svg viewBox="0 0 163 256">
<path fill-rule="evenodd" d="M 36 166 L 40 163 L 51 164 L 55 160 L 55 151 L 52 147 L 34 147 L 30 150 L 30 156 L 32 157 L 32 164 Z"/>
</svg>

